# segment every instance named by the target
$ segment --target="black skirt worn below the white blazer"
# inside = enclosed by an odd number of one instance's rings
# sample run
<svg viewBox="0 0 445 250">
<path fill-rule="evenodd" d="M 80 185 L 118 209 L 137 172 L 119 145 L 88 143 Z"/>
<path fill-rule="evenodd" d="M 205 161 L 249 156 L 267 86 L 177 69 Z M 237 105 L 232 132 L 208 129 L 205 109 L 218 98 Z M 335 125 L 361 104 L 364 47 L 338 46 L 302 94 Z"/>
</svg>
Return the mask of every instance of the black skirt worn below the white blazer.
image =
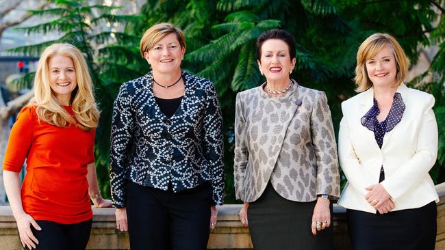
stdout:
<svg viewBox="0 0 445 250">
<path fill-rule="evenodd" d="M 353 249 L 433 250 L 437 234 L 437 206 L 431 202 L 421 208 L 372 214 L 347 209 L 349 235 Z"/>
</svg>

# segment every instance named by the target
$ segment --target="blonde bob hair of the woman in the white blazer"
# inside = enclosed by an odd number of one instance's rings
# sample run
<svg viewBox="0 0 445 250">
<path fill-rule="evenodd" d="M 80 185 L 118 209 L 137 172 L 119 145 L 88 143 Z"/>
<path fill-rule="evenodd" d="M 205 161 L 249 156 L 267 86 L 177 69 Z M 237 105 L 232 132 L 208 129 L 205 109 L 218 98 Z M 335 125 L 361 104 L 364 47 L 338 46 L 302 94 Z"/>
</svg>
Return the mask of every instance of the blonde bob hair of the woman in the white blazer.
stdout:
<svg viewBox="0 0 445 250">
<path fill-rule="evenodd" d="M 392 36 L 386 33 L 374 33 L 361 43 L 357 51 L 357 66 L 355 67 L 356 92 L 364 92 L 372 86 L 366 71 L 366 61 L 377 55 L 383 46 L 388 45 L 392 48 L 392 54 L 396 59 L 397 75 L 396 84 L 401 85 L 408 72 L 409 61 L 403 48 Z"/>
</svg>

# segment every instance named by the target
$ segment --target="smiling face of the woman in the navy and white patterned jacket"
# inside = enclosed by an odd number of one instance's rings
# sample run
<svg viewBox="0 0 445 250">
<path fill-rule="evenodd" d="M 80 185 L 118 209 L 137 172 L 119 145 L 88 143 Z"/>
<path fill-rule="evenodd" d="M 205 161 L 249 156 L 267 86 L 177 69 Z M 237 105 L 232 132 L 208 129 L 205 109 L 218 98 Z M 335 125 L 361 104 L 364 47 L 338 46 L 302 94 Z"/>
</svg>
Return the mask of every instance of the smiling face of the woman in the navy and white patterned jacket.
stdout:
<svg viewBox="0 0 445 250">
<path fill-rule="evenodd" d="M 181 69 L 181 61 L 186 49 L 181 47 L 175 33 L 162 38 L 144 57 L 151 65 L 153 72 L 168 74 Z"/>
</svg>

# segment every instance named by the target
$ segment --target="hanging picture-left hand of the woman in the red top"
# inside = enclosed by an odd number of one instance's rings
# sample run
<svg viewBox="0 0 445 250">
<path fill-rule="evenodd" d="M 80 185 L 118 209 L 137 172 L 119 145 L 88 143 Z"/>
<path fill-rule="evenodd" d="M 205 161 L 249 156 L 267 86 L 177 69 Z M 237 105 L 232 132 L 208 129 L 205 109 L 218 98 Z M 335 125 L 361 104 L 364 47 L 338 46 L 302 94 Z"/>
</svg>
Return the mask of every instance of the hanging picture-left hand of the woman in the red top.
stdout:
<svg viewBox="0 0 445 250">
<path fill-rule="evenodd" d="M 34 234 L 32 234 L 31 231 L 31 225 L 36 230 L 42 230 L 40 226 L 32 219 L 32 217 L 23 212 L 20 216 L 16 217 L 17 221 L 17 229 L 18 234 L 20 236 L 20 241 L 22 242 L 22 246 L 25 247 L 25 245 L 28 247 L 28 249 L 35 249 L 36 245 L 38 245 L 38 240 Z"/>
</svg>

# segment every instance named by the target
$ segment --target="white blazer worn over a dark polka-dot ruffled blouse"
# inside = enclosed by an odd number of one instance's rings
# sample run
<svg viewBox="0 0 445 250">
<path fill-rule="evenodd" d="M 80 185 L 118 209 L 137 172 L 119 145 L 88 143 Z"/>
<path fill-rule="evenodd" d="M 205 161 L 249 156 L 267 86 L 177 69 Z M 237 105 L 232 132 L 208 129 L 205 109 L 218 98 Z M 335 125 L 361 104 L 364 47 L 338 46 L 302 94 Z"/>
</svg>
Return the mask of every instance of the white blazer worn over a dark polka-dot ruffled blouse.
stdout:
<svg viewBox="0 0 445 250">
<path fill-rule="evenodd" d="M 394 210 L 439 202 L 428 173 L 437 158 L 434 97 L 405 84 L 397 92 L 403 98 L 405 112 L 401 122 L 385 133 L 381 149 L 374 132 L 361 124 L 361 117 L 374 104 L 372 87 L 342 102 L 338 153 L 348 182 L 338 205 L 344 208 L 376 213 L 365 199 L 365 188 L 379 183 L 382 165 L 385 180 L 381 184 L 394 199 Z"/>
</svg>

